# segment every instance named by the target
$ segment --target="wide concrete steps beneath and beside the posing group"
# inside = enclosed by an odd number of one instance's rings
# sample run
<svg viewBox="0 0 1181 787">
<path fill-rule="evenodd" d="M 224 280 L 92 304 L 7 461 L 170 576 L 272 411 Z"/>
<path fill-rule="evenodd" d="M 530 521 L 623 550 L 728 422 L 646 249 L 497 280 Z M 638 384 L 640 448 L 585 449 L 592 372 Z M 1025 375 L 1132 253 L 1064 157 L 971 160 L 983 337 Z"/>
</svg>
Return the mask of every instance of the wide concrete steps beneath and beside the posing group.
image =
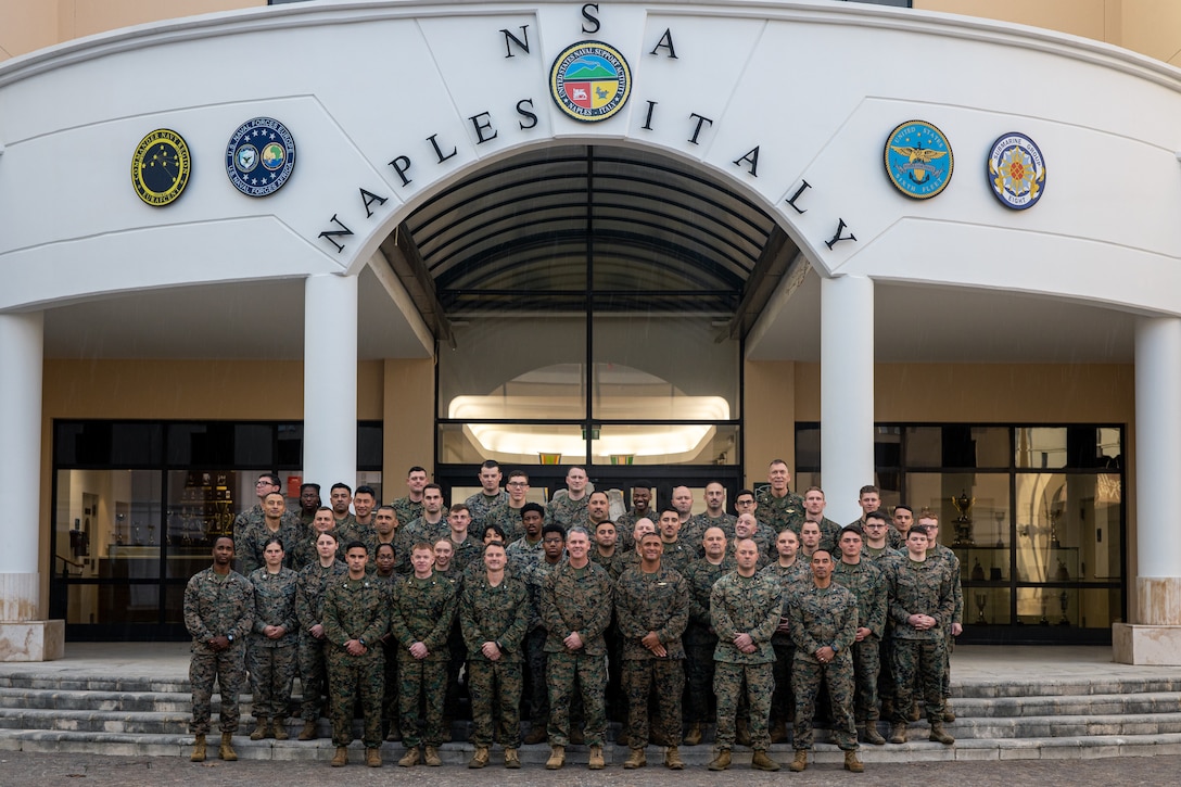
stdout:
<svg viewBox="0 0 1181 787">
<path fill-rule="evenodd" d="M 298 683 L 296 683 L 298 688 Z M 913 742 L 902 746 L 862 746 L 866 762 L 919 760 L 996 760 L 1050 757 L 1108 757 L 1181 753 L 1181 678 L 1064 678 L 1055 681 L 980 681 L 960 683 L 953 690 L 957 721 L 948 731 L 952 747 L 927 742 L 925 722 L 911 724 Z M 242 728 L 235 737 L 239 756 L 254 760 L 321 760 L 332 757 L 328 722 L 320 720 L 318 741 L 299 742 L 301 724 L 288 720 L 289 741 L 250 741 L 254 728 L 249 697 L 242 710 Z M 68 675 L 0 675 L 0 750 L 74 752 L 135 756 L 188 756 L 190 697 L 185 681 L 135 677 L 70 677 Z M 214 701 L 216 735 L 217 700 Z M 881 729 L 886 731 L 883 723 Z M 358 728 L 359 733 L 359 728 Z M 457 723 L 456 741 L 465 741 L 468 727 Z M 824 731 L 813 759 L 839 763 L 841 753 Z M 360 743 L 354 743 L 359 747 Z M 386 743 L 383 756 L 392 763 L 403 753 L 400 743 Z M 465 765 L 471 746 L 448 743 L 446 765 Z M 704 767 L 712 746 L 683 747 L 691 767 Z M 494 749 L 494 765 L 500 752 Z M 620 763 L 627 749 L 608 744 L 608 763 Z M 359 760 L 359 754 L 355 755 Z M 541 766 L 548 747 L 522 749 L 526 765 Z M 787 762 L 790 744 L 771 747 L 771 756 Z M 569 761 L 585 763 L 587 748 L 572 747 Z M 648 760 L 660 762 L 652 747 Z M 735 752 L 738 766 L 749 752 Z"/>
</svg>

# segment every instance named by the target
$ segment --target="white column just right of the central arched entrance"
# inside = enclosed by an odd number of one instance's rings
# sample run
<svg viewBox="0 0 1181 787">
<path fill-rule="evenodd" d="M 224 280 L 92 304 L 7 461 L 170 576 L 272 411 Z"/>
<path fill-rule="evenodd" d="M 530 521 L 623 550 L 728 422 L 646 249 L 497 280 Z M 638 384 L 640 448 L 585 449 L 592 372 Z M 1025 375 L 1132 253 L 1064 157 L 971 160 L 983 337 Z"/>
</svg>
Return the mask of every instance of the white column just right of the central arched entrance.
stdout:
<svg viewBox="0 0 1181 787">
<path fill-rule="evenodd" d="M 874 482 L 874 282 L 820 282 L 820 460 L 826 515 L 861 515 L 857 493 Z"/>
</svg>

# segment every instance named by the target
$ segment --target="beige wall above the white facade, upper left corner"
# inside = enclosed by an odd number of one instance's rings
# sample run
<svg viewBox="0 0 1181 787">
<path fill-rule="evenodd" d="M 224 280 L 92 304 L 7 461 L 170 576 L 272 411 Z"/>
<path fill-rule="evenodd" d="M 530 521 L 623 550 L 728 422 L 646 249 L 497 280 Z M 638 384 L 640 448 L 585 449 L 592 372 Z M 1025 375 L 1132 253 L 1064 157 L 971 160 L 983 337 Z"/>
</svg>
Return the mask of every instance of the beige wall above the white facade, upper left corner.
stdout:
<svg viewBox="0 0 1181 787">
<path fill-rule="evenodd" d="M 2 0 L 0 60 L 117 27 L 266 5 L 267 0 Z"/>
</svg>

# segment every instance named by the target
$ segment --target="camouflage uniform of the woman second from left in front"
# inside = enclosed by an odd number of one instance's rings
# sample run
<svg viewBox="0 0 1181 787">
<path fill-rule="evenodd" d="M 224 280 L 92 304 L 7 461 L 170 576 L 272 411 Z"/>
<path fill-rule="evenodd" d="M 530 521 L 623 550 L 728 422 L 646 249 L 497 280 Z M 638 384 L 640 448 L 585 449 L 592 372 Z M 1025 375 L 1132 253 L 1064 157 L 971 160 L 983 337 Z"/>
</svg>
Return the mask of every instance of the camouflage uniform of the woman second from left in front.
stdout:
<svg viewBox="0 0 1181 787">
<path fill-rule="evenodd" d="M 286 566 L 272 573 L 267 566 L 250 574 L 254 586 L 254 625 L 247 662 L 254 717 L 260 726 L 273 720 L 275 729 L 287 720 L 299 653 L 299 623 L 295 620 L 295 586 L 299 574 Z M 267 635 L 279 626 L 278 637 Z"/>
</svg>

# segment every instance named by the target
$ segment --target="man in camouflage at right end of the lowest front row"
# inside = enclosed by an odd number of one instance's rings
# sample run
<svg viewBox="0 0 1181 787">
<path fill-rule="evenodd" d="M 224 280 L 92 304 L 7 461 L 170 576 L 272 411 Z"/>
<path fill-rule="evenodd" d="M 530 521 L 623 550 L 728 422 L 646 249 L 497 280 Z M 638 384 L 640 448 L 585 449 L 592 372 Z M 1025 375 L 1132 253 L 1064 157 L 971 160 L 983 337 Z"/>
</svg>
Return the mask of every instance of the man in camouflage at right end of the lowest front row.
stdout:
<svg viewBox="0 0 1181 787">
<path fill-rule="evenodd" d="M 807 752 L 813 747 L 816 698 L 823 684 L 831 704 L 833 740 L 842 750 L 856 752 L 850 649 L 857 636 L 857 599 L 831 581 L 833 555 L 828 551 L 817 549 L 811 565 L 814 581 L 795 585 L 783 605 L 796 644 L 791 664 L 796 695 L 792 748 Z"/>
</svg>

